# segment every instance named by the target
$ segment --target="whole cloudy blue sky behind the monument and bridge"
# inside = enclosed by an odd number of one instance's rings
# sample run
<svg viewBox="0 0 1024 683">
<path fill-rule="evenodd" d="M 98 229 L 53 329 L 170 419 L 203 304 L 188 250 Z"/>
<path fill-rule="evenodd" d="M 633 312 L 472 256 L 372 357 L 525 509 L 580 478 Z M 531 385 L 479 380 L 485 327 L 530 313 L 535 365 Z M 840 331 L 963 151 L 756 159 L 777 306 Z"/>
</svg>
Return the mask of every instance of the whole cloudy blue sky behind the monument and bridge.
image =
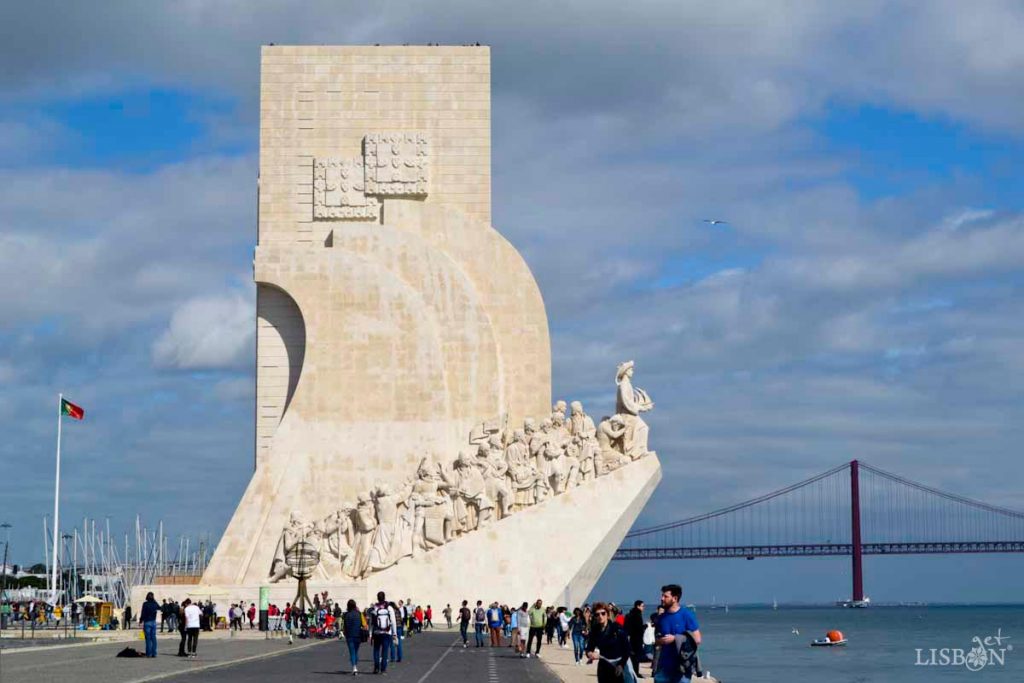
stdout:
<svg viewBox="0 0 1024 683">
<path fill-rule="evenodd" d="M 261 44 L 492 48 L 494 223 L 555 397 L 636 360 L 638 526 L 853 458 L 1024 510 L 1024 7 L 997 0 L 40 1 L 0 27 L 0 521 L 216 541 L 253 462 Z M 705 218 L 727 221 L 710 226 Z M 2 540 L 2 539 L 0 539 Z M 877 558 L 882 600 L 1024 601 L 1017 556 Z M 842 559 L 613 563 L 597 593 L 831 600 Z"/>
</svg>

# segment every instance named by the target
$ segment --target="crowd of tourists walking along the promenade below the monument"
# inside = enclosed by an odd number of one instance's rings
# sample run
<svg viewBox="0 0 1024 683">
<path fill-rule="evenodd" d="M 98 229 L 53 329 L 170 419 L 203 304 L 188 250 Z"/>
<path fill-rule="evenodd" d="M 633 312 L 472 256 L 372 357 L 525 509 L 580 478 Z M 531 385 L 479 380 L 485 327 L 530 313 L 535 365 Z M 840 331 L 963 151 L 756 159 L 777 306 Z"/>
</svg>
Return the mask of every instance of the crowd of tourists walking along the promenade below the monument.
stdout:
<svg viewBox="0 0 1024 683">
<path fill-rule="evenodd" d="M 458 628 L 462 646 L 509 647 L 522 658 L 541 657 L 545 646 L 572 649 L 577 666 L 596 664 L 599 683 L 620 683 L 644 678 L 641 665 L 649 664 L 655 683 L 680 683 L 700 675 L 696 657 L 700 631 L 694 613 L 682 605 L 682 588 L 662 587 L 660 602 L 648 615 L 642 600 L 628 609 L 610 602 L 577 607 L 545 605 L 540 599 L 518 606 L 500 601 L 463 600 L 455 609 L 441 609 L 444 625 Z M 254 603 L 232 603 L 226 625 L 232 630 L 258 628 Z M 282 609 L 270 604 L 267 610 L 271 631 L 285 632 L 289 639 L 337 638 L 345 641 L 352 674 L 358 674 L 359 651 L 373 650 L 374 673 L 387 672 L 389 665 L 401 663 L 403 641 L 433 628 L 433 606 L 412 600 L 391 601 L 384 592 L 360 608 L 355 600 L 344 607 L 327 592 L 313 596 L 312 603 L 297 608 L 286 603 Z M 195 657 L 202 631 L 217 625 L 217 607 L 212 601 L 185 599 L 157 602 L 146 595 L 138 622 L 145 637 L 145 655 L 157 655 L 157 627 L 180 634 L 178 656 Z M 458 641 L 457 641 L 458 642 Z"/>
</svg>

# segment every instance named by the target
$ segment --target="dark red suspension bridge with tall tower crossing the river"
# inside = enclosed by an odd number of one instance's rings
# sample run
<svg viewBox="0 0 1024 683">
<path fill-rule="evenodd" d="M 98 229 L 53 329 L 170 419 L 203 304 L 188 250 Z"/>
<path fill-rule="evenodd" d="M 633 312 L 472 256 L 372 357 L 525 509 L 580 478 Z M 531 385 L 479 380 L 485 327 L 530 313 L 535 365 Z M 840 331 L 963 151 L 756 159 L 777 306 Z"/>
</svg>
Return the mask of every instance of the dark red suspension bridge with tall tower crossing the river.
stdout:
<svg viewBox="0 0 1024 683">
<path fill-rule="evenodd" d="M 714 512 L 631 531 L 615 560 L 849 555 L 864 606 L 864 555 L 1024 552 L 1024 513 L 856 460 Z"/>
</svg>

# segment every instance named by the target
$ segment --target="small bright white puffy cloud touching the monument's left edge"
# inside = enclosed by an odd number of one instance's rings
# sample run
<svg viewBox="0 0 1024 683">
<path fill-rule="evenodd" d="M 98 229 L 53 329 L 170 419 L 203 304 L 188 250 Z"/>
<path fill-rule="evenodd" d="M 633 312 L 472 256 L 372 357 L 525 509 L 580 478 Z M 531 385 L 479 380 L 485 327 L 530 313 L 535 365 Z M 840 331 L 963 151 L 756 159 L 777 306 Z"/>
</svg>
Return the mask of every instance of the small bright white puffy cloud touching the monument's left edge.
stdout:
<svg viewBox="0 0 1024 683">
<path fill-rule="evenodd" d="M 186 301 L 154 342 L 154 361 L 182 370 L 244 366 L 252 359 L 255 310 L 252 298 L 241 294 Z"/>
</svg>

